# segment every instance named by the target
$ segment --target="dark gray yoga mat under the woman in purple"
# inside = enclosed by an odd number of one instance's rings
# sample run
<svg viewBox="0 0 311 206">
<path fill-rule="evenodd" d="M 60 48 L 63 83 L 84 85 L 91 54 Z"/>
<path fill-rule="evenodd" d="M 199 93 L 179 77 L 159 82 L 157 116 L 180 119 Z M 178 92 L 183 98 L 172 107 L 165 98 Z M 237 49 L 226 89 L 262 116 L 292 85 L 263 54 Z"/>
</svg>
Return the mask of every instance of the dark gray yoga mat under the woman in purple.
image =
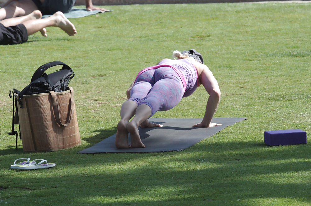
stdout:
<svg viewBox="0 0 311 206">
<path fill-rule="evenodd" d="M 246 118 L 213 118 L 213 123 L 222 124 L 211 128 L 192 127 L 202 121 L 197 119 L 167 119 L 167 118 L 150 118 L 149 121 L 157 124 L 163 124 L 164 127 L 155 127 L 142 129 L 139 128 L 139 135 L 145 148 L 117 149 L 114 145 L 116 135 L 112 135 L 103 141 L 96 143 L 94 146 L 86 148 L 78 153 L 94 154 L 105 152 L 169 152 L 181 151 L 192 145 L 208 138 L 226 127 L 245 120 Z M 131 137 L 128 135 L 128 142 L 131 143 Z"/>
</svg>

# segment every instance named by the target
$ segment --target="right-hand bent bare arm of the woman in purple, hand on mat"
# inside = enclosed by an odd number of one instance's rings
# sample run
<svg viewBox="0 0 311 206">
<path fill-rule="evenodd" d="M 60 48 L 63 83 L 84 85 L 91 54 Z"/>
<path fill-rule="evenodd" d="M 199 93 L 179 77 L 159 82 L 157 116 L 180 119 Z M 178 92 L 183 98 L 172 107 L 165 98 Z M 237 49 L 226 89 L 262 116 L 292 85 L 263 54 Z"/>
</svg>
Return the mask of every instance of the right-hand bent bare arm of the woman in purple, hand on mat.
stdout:
<svg viewBox="0 0 311 206">
<path fill-rule="evenodd" d="M 201 63 L 194 63 L 194 66 L 202 70 L 200 75 L 201 84 L 204 86 L 207 93 L 210 95 L 207 100 L 205 114 L 200 124 L 193 125 L 194 127 L 213 127 L 221 124 L 211 123 L 211 120 L 217 110 L 220 101 L 220 89 L 218 82 L 213 76 L 209 68 Z"/>
</svg>

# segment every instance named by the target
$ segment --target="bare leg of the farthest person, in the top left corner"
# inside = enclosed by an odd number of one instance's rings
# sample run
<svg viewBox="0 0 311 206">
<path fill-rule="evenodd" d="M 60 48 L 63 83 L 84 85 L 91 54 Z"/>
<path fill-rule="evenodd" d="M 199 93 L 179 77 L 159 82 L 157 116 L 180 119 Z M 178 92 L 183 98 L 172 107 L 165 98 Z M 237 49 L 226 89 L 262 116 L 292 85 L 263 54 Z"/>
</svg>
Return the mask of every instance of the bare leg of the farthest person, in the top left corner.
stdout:
<svg viewBox="0 0 311 206">
<path fill-rule="evenodd" d="M 38 10 L 38 7 L 31 0 L 15 0 L 0 9 L 0 20 L 25 16 Z"/>
</svg>

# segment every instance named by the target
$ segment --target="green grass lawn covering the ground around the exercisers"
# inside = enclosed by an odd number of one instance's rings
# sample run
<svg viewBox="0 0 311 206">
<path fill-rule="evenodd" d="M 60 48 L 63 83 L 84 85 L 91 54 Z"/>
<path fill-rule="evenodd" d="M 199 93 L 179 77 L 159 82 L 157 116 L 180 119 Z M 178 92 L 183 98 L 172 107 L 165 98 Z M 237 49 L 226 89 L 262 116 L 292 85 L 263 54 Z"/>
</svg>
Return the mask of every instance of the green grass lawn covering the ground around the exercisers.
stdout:
<svg viewBox="0 0 311 206">
<path fill-rule="evenodd" d="M 310 144 L 269 147 L 263 132 L 303 129 L 310 141 L 309 3 L 106 6 L 70 19 L 78 34 L 47 28 L 25 44 L 0 46 L 0 205 L 311 205 Z M 247 117 L 182 152 L 81 155 L 116 132 L 137 73 L 194 48 L 218 80 L 216 117 Z M 35 69 L 70 65 L 82 145 L 24 153 L 7 135 L 12 99 Z M 202 87 L 154 117 L 200 118 Z M 15 159 L 56 162 L 10 170 Z"/>
</svg>

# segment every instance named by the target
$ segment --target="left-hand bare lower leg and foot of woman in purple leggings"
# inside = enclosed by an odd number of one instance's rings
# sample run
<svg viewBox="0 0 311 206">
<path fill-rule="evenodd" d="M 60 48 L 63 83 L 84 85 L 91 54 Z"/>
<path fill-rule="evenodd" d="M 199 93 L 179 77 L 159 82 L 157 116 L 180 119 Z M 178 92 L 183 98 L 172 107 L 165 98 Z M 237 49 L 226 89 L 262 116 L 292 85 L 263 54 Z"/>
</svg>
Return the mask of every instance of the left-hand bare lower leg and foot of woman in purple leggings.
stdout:
<svg viewBox="0 0 311 206">
<path fill-rule="evenodd" d="M 115 140 L 115 146 L 119 149 L 121 148 L 129 148 L 128 145 L 128 121 L 134 116 L 137 108 L 137 104 L 135 101 L 128 100 L 125 101 L 120 110 L 121 120 L 117 125 L 117 134 Z M 132 136 L 131 136 L 132 137 Z"/>
</svg>

